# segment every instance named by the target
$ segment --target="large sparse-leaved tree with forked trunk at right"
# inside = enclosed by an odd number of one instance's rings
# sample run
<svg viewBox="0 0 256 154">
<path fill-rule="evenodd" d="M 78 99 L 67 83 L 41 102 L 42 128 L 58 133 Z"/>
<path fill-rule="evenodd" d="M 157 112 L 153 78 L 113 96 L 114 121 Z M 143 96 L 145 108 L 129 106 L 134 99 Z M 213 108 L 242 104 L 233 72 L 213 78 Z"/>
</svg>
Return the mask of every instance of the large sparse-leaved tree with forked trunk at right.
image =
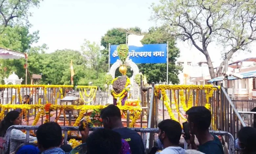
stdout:
<svg viewBox="0 0 256 154">
<path fill-rule="evenodd" d="M 246 50 L 256 39 L 255 1 L 198 1 L 161 0 L 152 5 L 152 19 L 160 20 L 172 36 L 189 40 L 205 55 L 211 78 L 215 72 L 208 53 L 208 45 L 216 42 L 227 51 L 224 58 L 230 60 L 238 50 Z M 220 64 L 217 76 L 222 72 Z"/>
</svg>

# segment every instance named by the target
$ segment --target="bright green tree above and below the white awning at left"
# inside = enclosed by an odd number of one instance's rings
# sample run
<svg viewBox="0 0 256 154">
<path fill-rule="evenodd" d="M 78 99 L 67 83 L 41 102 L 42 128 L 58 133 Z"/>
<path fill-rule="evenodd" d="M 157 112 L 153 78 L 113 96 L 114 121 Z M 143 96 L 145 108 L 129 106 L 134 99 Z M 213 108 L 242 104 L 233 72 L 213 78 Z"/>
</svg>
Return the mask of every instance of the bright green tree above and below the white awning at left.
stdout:
<svg viewBox="0 0 256 154">
<path fill-rule="evenodd" d="M 0 47 L 10 48 L 12 50 L 25 52 L 31 48 L 31 44 L 38 40 L 38 32 L 29 33 L 28 27 L 0 26 Z M 25 59 L 0 59 L 0 80 L 3 84 L 3 78 L 8 77 L 13 71 L 25 79 Z M 23 81 L 24 83 L 25 81 Z"/>
</svg>

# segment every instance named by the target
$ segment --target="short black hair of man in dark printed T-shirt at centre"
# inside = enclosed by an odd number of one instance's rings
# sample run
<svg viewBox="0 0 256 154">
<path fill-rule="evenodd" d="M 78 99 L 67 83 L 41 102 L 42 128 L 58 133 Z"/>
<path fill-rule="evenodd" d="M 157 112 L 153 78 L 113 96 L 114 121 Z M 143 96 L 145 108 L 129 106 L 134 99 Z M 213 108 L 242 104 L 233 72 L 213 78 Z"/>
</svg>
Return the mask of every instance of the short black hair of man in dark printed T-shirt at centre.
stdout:
<svg viewBox="0 0 256 154">
<path fill-rule="evenodd" d="M 106 117 L 117 117 L 121 119 L 120 109 L 115 105 L 109 105 L 100 111 L 100 117 L 105 119 Z"/>
</svg>

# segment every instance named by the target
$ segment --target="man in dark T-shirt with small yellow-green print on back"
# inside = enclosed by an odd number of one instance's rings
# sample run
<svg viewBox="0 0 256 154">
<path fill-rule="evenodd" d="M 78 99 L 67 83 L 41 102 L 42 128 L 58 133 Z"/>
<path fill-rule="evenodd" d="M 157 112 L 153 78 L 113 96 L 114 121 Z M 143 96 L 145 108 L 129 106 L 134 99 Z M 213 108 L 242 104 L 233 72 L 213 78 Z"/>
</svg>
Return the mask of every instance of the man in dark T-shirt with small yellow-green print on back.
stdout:
<svg viewBox="0 0 256 154">
<path fill-rule="evenodd" d="M 121 112 L 117 106 L 109 105 L 103 108 L 100 112 L 100 117 L 104 128 L 120 133 L 122 139 L 129 143 L 132 154 L 145 154 L 141 136 L 136 131 L 123 126 Z"/>
</svg>

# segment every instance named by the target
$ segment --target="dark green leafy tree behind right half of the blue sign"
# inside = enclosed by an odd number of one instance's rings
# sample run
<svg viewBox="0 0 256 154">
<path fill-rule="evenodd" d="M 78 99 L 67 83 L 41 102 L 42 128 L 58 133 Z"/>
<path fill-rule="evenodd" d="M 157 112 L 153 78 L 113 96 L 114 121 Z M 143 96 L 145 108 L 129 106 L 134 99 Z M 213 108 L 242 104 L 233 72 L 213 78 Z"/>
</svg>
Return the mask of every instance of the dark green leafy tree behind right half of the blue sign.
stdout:
<svg viewBox="0 0 256 154">
<path fill-rule="evenodd" d="M 175 39 L 168 34 L 164 27 L 151 27 L 141 42 L 143 44 L 161 44 L 167 41 L 169 41 L 168 81 L 172 84 L 178 84 L 178 74 L 181 68 L 176 66 L 175 62 L 176 58 L 180 56 L 180 51 L 175 47 Z M 146 75 L 149 83 L 166 82 L 166 64 L 139 64 L 138 66 L 140 71 Z"/>
</svg>

